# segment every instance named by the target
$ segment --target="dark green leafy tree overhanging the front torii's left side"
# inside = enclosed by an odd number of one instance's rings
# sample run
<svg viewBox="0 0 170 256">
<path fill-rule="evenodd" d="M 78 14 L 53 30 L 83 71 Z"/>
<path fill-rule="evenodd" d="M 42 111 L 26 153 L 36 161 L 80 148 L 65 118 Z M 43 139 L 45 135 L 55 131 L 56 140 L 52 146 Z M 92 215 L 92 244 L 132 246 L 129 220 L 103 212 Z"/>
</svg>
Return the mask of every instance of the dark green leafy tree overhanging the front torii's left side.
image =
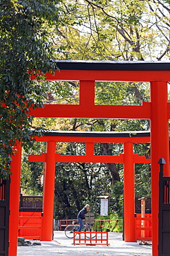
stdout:
<svg viewBox="0 0 170 256">
<path fill-rule="evenodd" d="M 58 0 L 1 0 L 0 3 L 0 177 L 8 177 L 16 142 L 32 147 L 30 107 L 42 107 L 45 88 L 30 80 L 32 69 L 56 68 L 49 26 L 58 21 Z"/>
</svg>

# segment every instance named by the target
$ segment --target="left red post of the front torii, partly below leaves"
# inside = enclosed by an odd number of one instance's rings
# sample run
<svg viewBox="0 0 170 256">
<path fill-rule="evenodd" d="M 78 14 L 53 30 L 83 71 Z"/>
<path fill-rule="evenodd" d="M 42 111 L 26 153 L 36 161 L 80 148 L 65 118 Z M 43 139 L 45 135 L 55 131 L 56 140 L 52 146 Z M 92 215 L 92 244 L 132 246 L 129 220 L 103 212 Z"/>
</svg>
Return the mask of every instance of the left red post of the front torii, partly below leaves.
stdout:
<svg viewBox="0 0 170 256">
<path fill-rule="evenodd" d="M 21 145 L 17 144 L 17 152 L 11 161 L 10 183 L 10 228 L 9 228 L 9 256 L 17 256 L 18 226 L 19 226 L 19 194 L 21 180 Z"/>
</svg>

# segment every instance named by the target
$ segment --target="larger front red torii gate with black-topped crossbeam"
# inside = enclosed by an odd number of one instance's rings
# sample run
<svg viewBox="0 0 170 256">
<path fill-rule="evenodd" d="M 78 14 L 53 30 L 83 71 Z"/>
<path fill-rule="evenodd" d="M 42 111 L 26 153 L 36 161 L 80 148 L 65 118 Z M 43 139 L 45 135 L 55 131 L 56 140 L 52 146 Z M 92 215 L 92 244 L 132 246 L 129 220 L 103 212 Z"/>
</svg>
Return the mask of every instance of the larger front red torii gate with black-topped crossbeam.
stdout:
<svg viewBox="0 0 170 256">
<path fill-rule="evenodd" d="M 57 61 L 59 71 L 54 75 L 47 73 L 47 80 L 78 80 L 80 81 L 80 100 L 77 105 L 48 104 L 43 109 L 30 111 L 36 117 L 51 118 L 120 118 L 151 120 L 151 200 L 152 200 L 152 243 L 153 256 L 158 255 L 158 180 L 159 158 L 164 158 L 167 165 L 164 175 L 169 176 L 169 117 L 170 103 L 167 100 L 167 82 L 170 80 L 169 62 L 88 62 L 88 61 Z M 32 75 L 32 79 L 36 79 Z M 141 106 L 95 105 L 95 81 L 150 82 L 151 102 L 143 102 Z M 55 143 L 49 141 L 55 162 Z M 131 152 L 131 146 L 127 152 Z M 18 145 L 19 153 L 21 146 Z M 92 150 L 92 147 L 91 147 Z M 10 256 L 16 255 L 16 223 L 17 222 L 20 179 L 20 154 L 12 161 L 12 183 L 10 197 Z M 50 158 L 50 154 L 47 154 Z M 125 154 L 125 157 L 130 157 Z M 47 162 L 48 157 L 46 159 Z M 113 162 L 113 160 L 112 160 Z M 130 168 L 130 166 L 129 166 Z M 17 171 L 16 171 L 17 170 Z M 17 184 L 17 186 L 16 186 Z M 131 185 L 131 184 L 129 184 Z M 15 200 L 12 201 L 12 200 Z M 13 234 L 12 234 L 13 232 Z M 12 239 L 12 236 L 14 237 Z"/>
</svg>

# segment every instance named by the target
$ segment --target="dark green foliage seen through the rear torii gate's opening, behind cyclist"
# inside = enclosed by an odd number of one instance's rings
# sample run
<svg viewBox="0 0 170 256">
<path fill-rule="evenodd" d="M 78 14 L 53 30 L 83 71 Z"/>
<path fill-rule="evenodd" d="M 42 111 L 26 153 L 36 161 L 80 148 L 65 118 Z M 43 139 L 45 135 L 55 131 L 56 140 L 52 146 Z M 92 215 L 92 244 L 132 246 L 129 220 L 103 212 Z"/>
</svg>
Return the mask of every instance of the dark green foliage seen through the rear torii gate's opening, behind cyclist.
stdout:
<svg viewBox="0 0 170 256">
<path fill-rule="evenodd" d="M 96 150 L 100 151 L 100 148 Z M 67 144 L 64 152 L 67 155 L 83 154 L 83 143 Z M 98 196 L 103 194 L 111 196 L 109 214 L 117 212 L 117 216 L 122 216 L 123 182 L 112 184 L 105 163 L 56 163 L 54 216 L 56 219 L 75 219 L 77 212 L 87 203 L 97 216 L 100 213 Z"/>
</svg>

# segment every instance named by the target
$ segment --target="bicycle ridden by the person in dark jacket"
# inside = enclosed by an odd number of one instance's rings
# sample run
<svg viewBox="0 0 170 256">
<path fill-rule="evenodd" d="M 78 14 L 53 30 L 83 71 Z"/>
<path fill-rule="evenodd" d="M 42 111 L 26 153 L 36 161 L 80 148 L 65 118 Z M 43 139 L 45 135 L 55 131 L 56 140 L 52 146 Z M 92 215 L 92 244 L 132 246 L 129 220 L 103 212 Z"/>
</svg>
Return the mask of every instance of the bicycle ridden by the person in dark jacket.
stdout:
<svg viewBox="0 0 170 256">
<path fill-rule="evenodd" d="M 74 224 L 76 224 L 76 226 Z M 66 235 L 67 238 L 73 238 L 74 237 L 74 232 L 78 232 L 79 226 L 77 224 L 78 224 L 78 221 L 72 221 L 72 225 L 69 225 L 65 228 L 65 235 Z M 92 232 L 92 231 L 94 231 L 93 225 L 86 224 L 85 226 L 83 226 L 81 228 L 81 232 Z M 89 238 L 94 238 L 95 234 L 90 237 L 90 234 L 87 233 L 86 237 L 88 239 Z"/>
</svg>

